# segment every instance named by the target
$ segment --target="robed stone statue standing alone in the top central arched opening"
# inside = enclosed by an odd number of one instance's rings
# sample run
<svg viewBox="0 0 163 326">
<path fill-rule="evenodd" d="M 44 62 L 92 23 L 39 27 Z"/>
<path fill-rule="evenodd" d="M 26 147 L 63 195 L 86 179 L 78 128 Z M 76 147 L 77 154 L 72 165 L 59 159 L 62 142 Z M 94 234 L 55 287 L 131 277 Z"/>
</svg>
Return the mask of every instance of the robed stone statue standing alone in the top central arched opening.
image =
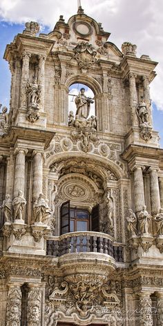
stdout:
<svg viewBox="0 0 163 326">
<path fill-rule="evenodd" d="M 81 88 L 79 95 L 75 98 L 75 104 L 77 106 L 76 115 L 79 118 L 87 119 L 90 113 L 90 104 L 93 103 L 92 99 L 86 97 L 85 88 Z"/>
</svg>

